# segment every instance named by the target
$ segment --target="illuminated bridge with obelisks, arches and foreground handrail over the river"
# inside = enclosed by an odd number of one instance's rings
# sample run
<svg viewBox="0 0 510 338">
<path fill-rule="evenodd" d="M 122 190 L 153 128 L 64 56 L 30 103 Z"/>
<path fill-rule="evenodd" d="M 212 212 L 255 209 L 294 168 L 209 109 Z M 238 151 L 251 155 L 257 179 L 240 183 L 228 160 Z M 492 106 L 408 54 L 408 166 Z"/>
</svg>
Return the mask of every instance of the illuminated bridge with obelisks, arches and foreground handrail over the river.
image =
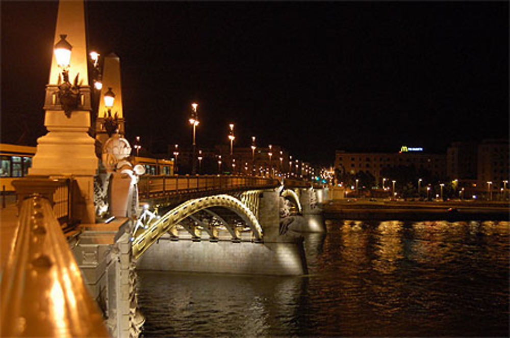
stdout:
<svg viewBox="0 0 510 338">
<path fill-rule="evenodd" d="M 83 2 L 59 4 L 56 49 L 66 37 L 78 52 L 71 66 L 53 58 L 48 133 L 29 176 L 13 182 L 18 215 L 2 272 L 3 336 L 138 336 L 139 269 L 307 273 L 299 232 L 325 231 L 317 217 L 327 188 L 274 175 L 145 175 L 123 137 L 121 103 L 101 103 L 109 114 L 97 116 L 96 138 L 88 135 Z M 118 67 L 114 55 L 103 80 L 120 96 Z"/>
</svg>

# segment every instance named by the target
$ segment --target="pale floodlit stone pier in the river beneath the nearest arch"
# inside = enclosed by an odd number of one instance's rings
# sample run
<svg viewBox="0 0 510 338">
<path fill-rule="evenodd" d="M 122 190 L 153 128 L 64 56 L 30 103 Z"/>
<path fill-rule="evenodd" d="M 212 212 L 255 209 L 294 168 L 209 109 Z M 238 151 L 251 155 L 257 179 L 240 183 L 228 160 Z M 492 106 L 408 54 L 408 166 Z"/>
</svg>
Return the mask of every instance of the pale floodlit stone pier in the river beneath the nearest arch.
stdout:
<svg viewBox="0 0 510 338">
<path fill-rule="evenodd" d="M 308 273 L 302 238 L 279 234 L 279 194 L 263 190 L 263 241 L 193 240 L 164 235 L 142 253 L 137 268 L 182 272 L 301 275 Z"/>
</svg>

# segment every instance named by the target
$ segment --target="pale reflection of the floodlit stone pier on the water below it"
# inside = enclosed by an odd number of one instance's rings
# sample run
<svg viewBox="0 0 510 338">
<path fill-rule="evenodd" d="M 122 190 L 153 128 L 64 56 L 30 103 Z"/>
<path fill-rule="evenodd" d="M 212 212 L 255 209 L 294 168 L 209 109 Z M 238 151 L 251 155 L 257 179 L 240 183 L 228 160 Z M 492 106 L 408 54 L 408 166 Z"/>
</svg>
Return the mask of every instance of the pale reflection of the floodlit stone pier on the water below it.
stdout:
<svg viewBox="0 0 510 338">
<path fill-rule="evenodd" d="M 288 326 L 297 317 L 304 284 L 301 277 L 140 271 L 144 335 L 260 336 L 292 331 Z"/>
</svg>

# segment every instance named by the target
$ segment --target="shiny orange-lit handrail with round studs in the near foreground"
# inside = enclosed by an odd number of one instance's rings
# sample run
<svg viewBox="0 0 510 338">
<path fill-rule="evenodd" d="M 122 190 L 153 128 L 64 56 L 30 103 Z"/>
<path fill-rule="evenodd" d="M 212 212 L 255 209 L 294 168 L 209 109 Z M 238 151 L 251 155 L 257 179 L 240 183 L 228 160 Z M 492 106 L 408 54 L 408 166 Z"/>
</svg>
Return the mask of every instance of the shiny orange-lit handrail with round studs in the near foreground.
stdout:
<svg viewBox="0 0 510 338">
<path fill-rule="evenodd" d="M 21 203 L 0 292 L 2 336 L 109 336 L 52 205 L 40 195 Z"/>
</svg>

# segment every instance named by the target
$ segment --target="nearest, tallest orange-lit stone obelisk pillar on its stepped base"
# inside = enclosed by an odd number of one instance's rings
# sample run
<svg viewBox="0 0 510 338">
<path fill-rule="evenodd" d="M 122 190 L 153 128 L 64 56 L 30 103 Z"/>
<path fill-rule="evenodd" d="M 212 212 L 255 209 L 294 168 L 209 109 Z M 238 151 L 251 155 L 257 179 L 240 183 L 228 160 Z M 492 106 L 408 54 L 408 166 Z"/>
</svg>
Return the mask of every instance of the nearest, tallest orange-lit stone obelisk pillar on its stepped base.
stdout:
<svg viewBox="0 0 510 338">
<path fill-rule="evenodd" d="M 80 100 L 78 107 L 67 117 L 58 96 L 61 69 L 53 55 L 44 102 L 44 126 L 48 133 L 37 139 L 37 151 L 29 175 L 73 176 L 78 183 L 77 218 L 93 222 L 94 175 L 97 157 L 94 139 L 88 135 L 90 128 L 90 87 L 87 70 L 87 45 L 83 1 L 61 1 L 57 15 L 55 43 L 60 35 L 72 45 L 69 81 L 78 75 Z M 53 47 L 53 46 L 52 46 Z"/>
</svg>

